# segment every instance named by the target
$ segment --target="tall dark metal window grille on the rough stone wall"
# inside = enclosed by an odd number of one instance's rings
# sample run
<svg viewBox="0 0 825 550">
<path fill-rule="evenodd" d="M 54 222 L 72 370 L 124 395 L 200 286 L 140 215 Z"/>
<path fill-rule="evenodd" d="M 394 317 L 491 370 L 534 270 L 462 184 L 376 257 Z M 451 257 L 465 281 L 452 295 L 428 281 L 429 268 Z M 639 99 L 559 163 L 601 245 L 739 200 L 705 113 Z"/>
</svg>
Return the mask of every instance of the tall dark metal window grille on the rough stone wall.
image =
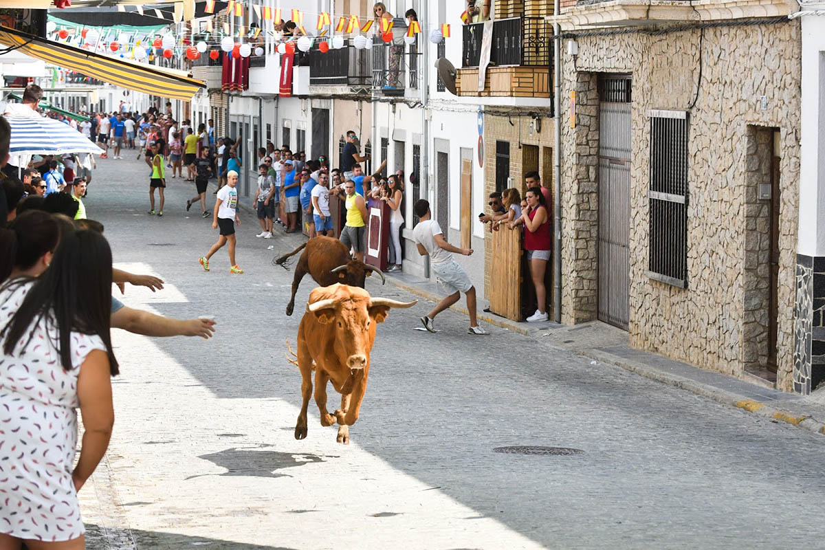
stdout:
<svg viewBox="0 0 825 550">
<path fill-rule="evenodd" d="M 651 110 L 648 272 L 687 288 L 687 113 Z"/>
</svg>

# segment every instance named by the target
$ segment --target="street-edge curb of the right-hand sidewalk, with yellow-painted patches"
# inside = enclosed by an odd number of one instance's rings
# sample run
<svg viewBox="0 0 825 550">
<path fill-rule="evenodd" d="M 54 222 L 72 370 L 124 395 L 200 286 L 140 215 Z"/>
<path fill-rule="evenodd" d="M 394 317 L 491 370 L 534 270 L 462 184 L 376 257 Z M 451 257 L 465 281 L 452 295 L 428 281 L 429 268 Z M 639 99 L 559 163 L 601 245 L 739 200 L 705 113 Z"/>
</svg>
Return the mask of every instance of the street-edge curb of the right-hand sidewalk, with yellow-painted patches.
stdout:
<svg viewBox="0 0 825 550">
<path fill-rule="evenodd" d="M 431 302 L 438 303 L 441 301 L 441 296 L 427 292 L 427 290 L 419 289 L 411 284 L 403 283 L 391 275 L 387 276 L 387 280 L 394 284 L 394 286 L 399 289 L 406 290 L 410 294 L 415 294 L 423 299 L 430 300 Z M 468 314 L 467 308 L 459 305 L 450 306 L 450 309 L 463 313 L 464 315 Z M 478 317 L 479 320 L 496 327 L 507 328 L 508 330 L 514 331 L 518 334 L 531 336 L 530 331 L 526 330 L 526 328 L 518 327 L 510 322 L 503 322 L 499 319 L 488 317 L 483 314 L 477 314 L 476 317 Z M 707 397 L 715 402 L 722 403 L 723 405 L 736 407 L 742 411 L 752 412 L 753 414 L 770 419 L 771 421 L 785 422 L 786 424 L 794 425 L 799 428 L 803 428 L 804 430 L 812 431 L 816 434 L 825 435 L 825 422 L 818 421 L 813 418 L 813 416 L 799 416 L 793 412 L 772 407 L 764 402 L 742 398 L 741 395 L 736 393 L 728 392 L 724 389 L 714 388 L 708 384 L 696 382 L 695 380 L 691 380 L 690 378 L 685 378 L 677 374 L 666 374 L 653 367 L 648 367 L 645 364 L 627 361 L 604 351 L 575 350 L 574 353 L 592 360 L 600 361 L 601 363 L 619 367 L 620 369 L 625 369 L 631 373 L 639 374 L 639 376 L 643 376 L 644 378 L 648 378 L 650 380 L 655 380 L 659 383 L 667 384 L 668 386 L 672 386 L 674 388 L 684 389 L 688 392 L 695 393 L 696 395 Z"/>
</svg>

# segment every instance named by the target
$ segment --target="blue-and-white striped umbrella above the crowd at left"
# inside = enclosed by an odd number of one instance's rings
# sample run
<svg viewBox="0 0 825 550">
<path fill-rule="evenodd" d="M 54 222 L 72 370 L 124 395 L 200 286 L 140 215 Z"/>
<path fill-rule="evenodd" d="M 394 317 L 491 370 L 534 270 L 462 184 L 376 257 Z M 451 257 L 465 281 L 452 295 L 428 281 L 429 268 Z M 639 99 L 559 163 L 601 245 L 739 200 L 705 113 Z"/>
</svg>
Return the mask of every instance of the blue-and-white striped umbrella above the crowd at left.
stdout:
<svg viewBox="0 0 825 550">
<path fill-rule="evenodd" d="M 9 154 L 26 157 L 31 155 L 62 155 L 64 153 L 94 153 L 103 149 L 71 126 L 43 116 L 7 116 L 12 126 Z"/>
</svg>

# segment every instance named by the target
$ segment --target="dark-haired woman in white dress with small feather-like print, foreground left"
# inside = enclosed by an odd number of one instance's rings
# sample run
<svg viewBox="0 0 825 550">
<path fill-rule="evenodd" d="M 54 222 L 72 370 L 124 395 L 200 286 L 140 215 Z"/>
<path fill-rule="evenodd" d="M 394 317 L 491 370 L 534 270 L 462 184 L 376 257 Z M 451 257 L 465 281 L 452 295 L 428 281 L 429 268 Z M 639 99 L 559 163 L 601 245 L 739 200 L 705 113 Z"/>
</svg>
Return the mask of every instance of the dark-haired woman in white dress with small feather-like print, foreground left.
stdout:
<svg viewBox="0 0 825 550">
<path fill-rule="evenodd" d="M 13 233 L 13 232 L 11 232 Z M 13 238 L 0 230 L 0 238 Z M 109 444 L 114 411 L 111 250 L 62 236 L 36 280 L 0 287 L 0 548 L 83 548 L 77 491 Z M 83 418 L 80 458 L 76 409 Z"/>
</svg>

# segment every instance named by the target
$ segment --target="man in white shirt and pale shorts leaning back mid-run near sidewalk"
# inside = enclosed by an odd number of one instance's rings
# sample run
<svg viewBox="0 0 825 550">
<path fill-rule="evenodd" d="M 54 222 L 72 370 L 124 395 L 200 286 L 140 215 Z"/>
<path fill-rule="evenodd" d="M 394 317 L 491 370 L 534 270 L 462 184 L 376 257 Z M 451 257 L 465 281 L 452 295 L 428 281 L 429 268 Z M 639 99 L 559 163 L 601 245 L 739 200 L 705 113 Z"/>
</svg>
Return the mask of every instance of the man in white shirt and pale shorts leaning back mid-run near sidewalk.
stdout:
<svg viewBox="0 0 825 550">
<path fill-rule="evenodd" d="M 444 232 L 436 220 L 432 219 L 430 203 L 427 200 L 418 200 L 413 207 L 420 222 L 413 229 L 413 239 L 422 256 L 430 256 L 430 267 L 436 273 L 436 279 L 447 292 L 451 294 L 436 304 L 430 313 L 421 318 L 421 322 L 428 331 L 435 332 L 432 320 L 436 315 L 449 308 L 461 298 L 461 293 L 467 294 L 467 311 L 469 313 L 469 334 L 488 335 L 489 332 L 479 327 L 475 317 L 475 287 L 470 282 L 467 272 L 453 259 L 452 252 L 469 256 L 472 248 L 457 248 L 447 242 Z"/>
</svg>

